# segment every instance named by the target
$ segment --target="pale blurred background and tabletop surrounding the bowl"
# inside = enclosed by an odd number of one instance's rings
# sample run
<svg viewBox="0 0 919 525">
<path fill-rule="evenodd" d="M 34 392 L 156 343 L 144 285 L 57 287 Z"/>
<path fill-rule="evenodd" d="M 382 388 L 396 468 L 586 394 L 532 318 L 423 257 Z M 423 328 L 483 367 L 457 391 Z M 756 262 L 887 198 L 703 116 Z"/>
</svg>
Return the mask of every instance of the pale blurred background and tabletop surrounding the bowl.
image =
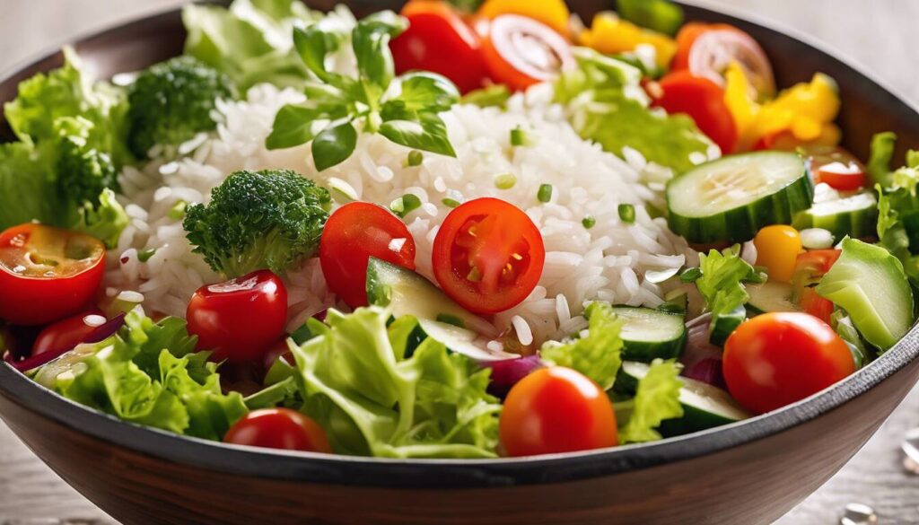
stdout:
<svg viewBox="0 0 919 525">
<path fill-rule="evenodd" d="M 87 32 L 184 3 L 185 0 L 0 0 L 0 72 Z M 919 64 L 919 47 L 914 42 L 919 1 L 692 0 L 688 3 L 752 17 L 820 42 L 824 48 L 919 104 L 919 82 L 914 73 L 915 65 Z M 845 506 L 850 503 L 874 508 L 878 521 L 848 524 L 919 523 L 919 477 L 903 468 L 900 451 L 906 430 L 916 426 L 919 426 L 919 390 L 913 391 L 856 459 L 779 524 L 840 523 Z M 789 480 L 789 484 L 793 483 L 794 480 Z M 53 474 L 0 423 L 0 525 L 110 523 L 114 521 Z"/>
</svg>

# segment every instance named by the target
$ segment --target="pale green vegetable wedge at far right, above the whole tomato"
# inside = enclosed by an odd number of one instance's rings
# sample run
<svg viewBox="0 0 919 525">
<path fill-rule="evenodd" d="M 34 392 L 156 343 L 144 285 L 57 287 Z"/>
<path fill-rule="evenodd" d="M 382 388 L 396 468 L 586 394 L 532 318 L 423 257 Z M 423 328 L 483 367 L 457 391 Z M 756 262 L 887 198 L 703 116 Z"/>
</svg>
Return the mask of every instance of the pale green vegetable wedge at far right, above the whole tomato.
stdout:
<svg viewBox="0 0 919 525">
<path fill-rule="evenodd" d="M 852 317 L 865 339 L 882 352 L 913 326 L 913 291 L 901 262 L 880 246 L 845 239 L 843 252 L 817 293 Z"/>
</svg>

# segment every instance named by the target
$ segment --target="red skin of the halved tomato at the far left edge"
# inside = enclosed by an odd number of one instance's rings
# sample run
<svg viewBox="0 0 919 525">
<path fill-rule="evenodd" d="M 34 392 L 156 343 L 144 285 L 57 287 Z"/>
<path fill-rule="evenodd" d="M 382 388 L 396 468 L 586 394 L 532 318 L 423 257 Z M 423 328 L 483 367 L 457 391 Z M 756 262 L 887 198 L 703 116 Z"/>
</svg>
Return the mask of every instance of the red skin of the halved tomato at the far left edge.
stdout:
<svg viewBox="0 0 919 525">
<path fill-rule="evenodd" d="M 36 228 L 49 228 L 72 234 L 66 230 L 21 224 L 0 234 L 0 250 L 17 243 L 17 238 L 30 236 Z M 28 241 L 27 241 L 28 243 Z M 99 245 L 102 245 L 99 243 Z M 14 325 L 47 325 L 84 310 L 93 300 L 106 268 L 105 250 L 88 268 L 66 278 L 36 278 L 17 275 L 0 264 L 0 319 Z"/>
</svg>

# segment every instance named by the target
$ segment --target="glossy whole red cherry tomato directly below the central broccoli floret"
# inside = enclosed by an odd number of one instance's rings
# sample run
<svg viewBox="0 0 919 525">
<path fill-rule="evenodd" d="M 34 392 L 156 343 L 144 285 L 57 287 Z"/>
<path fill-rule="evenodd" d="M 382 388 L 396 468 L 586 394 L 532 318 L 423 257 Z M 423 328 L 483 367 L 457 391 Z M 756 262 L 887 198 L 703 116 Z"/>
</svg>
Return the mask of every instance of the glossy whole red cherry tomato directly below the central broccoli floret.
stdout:
<svg viewBox="0 0 919 525">
<path fill-rule="evenodd" d="M 261 360 L 284 334 L 287 289 L 267 269 L 219 284 L 202 286 L 188 302 L 188 333 L 212 360 Z"/>
</svg>

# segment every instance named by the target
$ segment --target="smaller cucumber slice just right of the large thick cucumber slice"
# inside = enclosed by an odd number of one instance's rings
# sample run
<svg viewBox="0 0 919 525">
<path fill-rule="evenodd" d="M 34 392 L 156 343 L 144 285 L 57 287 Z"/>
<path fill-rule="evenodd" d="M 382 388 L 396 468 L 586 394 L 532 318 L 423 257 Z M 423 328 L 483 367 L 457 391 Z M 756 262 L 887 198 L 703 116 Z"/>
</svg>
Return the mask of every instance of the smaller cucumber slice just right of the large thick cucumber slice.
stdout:
<svg viewBox="0 0 919 525">
<path fill-rule="evenodd" d="M 792 225 L 799 229 L 823 228 L 837 239 L 874 236 L 878 233 L 878 199 L 865 191 L 838 200 L 818 202 L 810 210 L 795 215 Z"/>
</svg>

